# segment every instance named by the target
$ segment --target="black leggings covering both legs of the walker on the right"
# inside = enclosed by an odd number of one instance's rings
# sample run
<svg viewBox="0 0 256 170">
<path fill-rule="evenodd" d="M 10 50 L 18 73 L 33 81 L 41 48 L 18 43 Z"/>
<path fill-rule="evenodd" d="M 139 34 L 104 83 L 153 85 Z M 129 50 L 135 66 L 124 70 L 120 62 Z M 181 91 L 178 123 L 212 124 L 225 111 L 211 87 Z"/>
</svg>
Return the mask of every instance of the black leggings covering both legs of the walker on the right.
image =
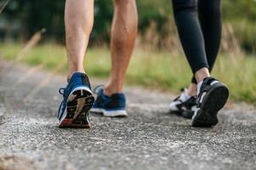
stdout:
<svg viewBox="0 0 256 170">
<path fill-rule="evenodd" d="M 221 38 L 221 0 L 172 0 L 172 7 L 193 73 L 203 67 L 212 71 Z"/>
</svg>

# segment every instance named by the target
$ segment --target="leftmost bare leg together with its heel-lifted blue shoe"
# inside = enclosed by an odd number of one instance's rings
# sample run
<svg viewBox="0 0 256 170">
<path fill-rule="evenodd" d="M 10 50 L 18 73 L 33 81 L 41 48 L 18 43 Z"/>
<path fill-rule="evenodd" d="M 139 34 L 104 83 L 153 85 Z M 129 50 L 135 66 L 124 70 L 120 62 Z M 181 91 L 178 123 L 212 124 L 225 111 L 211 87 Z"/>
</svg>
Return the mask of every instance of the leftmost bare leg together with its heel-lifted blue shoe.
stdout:
<svg viewBox="0 0 256 170">
<path fill-rule="evenodd" d="M 58 111 L 59 127 L 90 127 L 89 111 L 94 103 L 90 81 L 84 74 L 84 53 L 93 25 L 93 0 L 67 0 L 67 86 L 60 88 L 63 100 Z"/>
</svg>

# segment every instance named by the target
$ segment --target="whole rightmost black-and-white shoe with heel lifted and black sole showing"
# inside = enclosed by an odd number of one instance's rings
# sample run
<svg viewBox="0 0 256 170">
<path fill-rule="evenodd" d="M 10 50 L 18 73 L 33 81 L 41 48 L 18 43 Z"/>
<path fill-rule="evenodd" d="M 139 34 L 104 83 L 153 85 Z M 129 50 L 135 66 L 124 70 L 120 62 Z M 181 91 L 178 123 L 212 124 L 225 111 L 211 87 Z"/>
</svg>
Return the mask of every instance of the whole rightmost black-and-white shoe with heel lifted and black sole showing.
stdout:
<svg viewBox="0 0 256 170">
<path fill-rule="evenodd" d="M 193 127 L 212 127 L 218 123 L 218 111 L 229 98 L 229 89 L 213 77 L 207 77 L 197 85 L 197 108 L 192 117 Z"/>
</svg>

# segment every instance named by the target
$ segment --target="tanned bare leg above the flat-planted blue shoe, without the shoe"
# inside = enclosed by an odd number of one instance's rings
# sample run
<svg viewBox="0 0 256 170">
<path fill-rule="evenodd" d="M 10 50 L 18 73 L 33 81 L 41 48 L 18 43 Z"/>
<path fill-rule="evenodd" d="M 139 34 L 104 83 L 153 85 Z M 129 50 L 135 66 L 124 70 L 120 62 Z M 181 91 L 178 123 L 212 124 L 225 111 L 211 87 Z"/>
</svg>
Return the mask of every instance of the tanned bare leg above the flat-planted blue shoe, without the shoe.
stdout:
<svg viewBox="0 0 256 170">
<path fill-rule="evenodd" d="M 125 72 L 137 37 L 137 6 L 135 0 L 113 0 L 114 14 L 111 37 L 112 69 L 104 94 L 122 92 Z"/>
</svg>

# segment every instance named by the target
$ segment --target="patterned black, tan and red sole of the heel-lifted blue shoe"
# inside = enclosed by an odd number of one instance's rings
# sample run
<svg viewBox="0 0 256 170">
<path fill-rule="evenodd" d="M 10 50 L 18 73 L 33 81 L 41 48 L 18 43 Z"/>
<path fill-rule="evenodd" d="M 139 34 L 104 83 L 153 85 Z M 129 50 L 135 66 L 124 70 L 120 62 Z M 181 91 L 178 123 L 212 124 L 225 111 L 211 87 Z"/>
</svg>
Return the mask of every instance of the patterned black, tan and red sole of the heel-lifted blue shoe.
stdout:
<svg viewBox="0 0 256 170">
<path fill-rule="evenodd" d="M 67 109 L 59 127 L 90 128 L 89 111 L 94 103 L 90 88 L 75 88 L 67 99 Z"/>
</svg>

